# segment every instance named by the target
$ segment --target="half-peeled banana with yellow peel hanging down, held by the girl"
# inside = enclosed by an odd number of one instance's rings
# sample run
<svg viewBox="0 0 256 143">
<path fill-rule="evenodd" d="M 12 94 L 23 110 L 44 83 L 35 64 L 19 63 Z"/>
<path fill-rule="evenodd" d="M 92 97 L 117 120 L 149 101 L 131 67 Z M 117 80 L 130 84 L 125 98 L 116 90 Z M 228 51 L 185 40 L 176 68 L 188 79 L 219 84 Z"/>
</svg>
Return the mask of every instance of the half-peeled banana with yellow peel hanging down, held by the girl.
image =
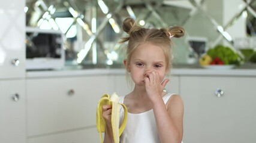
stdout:
<svg viewBox="0 0 256 143">
<path fill-rule="evenodd" d="M 122 132 L 125 129 L 125 125 L 127 123 L 127 107 L 119 103 L 119 97 L 114 93 L 113 95 L 104 94 L 100 100 L 98 101 L 97 106 L 97 114 L 96 114 L 96 126 L 97 130 L 100 133 L 100 140 L 101 143 L 103 142 L 102 132 L 105 132 L 106 129 L 106 122 L 103 118 L 103 105 L 112 105 L 112 114 L 111 114 L 111 123 L 112 123 L 112 132 L 113 132 L 113 139 L 115 143 L 119 143 L 119 137 L 121 136 Z M 124 108 L 124 120 L 122 125 L 119 128 L 119 117 L 120 117 L 120 105 Z"/>
</svg>

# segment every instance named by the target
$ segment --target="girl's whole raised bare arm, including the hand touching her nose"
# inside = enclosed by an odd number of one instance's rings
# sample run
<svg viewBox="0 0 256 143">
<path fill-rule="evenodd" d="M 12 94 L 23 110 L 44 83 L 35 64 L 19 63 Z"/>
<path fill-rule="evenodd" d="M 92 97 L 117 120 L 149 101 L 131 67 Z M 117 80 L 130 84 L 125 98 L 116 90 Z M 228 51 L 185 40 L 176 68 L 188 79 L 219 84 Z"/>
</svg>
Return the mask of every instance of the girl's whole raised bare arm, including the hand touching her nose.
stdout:
<svg viewBox="0 0 256 143">
<path fill-rule="evenodd" d="M 169 81 L 161 82 L 157 71 L 146 73 L 145 87 L 153 104 L 158 136 L 162 143 L 180 143 L 183 136 L 183 101 L 179 95 L 172 95 L 164 104 L 162 91 Z M 160 83 L 160 84 L 159 84 Z"/>
</svg>

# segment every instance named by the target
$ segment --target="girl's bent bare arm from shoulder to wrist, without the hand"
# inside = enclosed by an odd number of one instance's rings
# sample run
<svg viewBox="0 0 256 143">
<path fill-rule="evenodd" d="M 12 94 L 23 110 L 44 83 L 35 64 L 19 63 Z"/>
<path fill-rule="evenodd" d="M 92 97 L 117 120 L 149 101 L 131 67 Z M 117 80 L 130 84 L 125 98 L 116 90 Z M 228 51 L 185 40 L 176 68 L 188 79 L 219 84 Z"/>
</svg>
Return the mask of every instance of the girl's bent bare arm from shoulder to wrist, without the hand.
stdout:
<svg viewBox="0 0 256 143">
<path fill-rule="evenodd" d="M 183 101 L 172 95 L 164 104 L 162 98 L 153 104 L 158 135 L 162 143 L 180 143 L 183 136 Z"/>
</svg>

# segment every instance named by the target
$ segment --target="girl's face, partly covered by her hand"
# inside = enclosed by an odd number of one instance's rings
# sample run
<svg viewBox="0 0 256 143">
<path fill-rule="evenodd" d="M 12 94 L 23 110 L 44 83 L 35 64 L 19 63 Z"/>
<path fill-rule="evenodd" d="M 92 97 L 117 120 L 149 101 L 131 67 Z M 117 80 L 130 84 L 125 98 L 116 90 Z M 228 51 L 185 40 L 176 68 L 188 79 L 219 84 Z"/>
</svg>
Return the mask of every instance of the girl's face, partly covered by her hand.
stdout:
<svg viewBox="0 0 256 143">
<path fill-rule="evenodd" d="M 127 65 L 135 85 L 144 85 L 146 73 L 156 71 L 161 81 L 164 79 L 167 65 L 164 51 L 152 43 L 143 43 L 137 47 Z"/>
</svg>

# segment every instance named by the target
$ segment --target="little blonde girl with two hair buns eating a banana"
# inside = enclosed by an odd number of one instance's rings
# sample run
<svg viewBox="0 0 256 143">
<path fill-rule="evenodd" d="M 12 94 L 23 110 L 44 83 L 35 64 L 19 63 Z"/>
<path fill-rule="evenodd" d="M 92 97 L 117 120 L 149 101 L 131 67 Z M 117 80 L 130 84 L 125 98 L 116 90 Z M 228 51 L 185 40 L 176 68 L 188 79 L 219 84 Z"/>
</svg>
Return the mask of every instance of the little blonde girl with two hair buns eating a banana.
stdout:
<svg viewBox="0 0 256 143">
<path fill-rule="evenodd" d="M 182 142 L 183 101 L 179 95 L 164 92 L 168 82 L 164 77 L 171 68 L 171 38 L 182 37 L 184 29 L 145 29 L 132 18 L 124 20 L 122 29 L 129 35 L 121 41 L 128 41 L 124 66 L 135 86 L 131 93 L 121 97 L 128 109 L 128 120 L 120 142 Z M 111 105 L 103 106 L 104 143 L 113 142 L 111 111 Z"/>
</svg>

